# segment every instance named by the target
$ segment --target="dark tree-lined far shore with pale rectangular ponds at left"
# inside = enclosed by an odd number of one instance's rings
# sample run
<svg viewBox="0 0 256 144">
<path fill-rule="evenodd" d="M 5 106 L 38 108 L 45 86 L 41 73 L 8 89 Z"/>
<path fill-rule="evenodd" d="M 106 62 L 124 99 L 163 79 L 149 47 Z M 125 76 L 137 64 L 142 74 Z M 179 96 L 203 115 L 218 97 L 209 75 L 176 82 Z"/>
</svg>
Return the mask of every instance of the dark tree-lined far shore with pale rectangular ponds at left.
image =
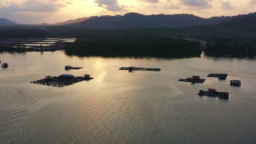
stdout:
<svg viewBox="0 0 256 144">
<path fill-rule="evenodd" d="M 197 57 L 202 51 L 212 57 L 255 57 L 256 41 L 252 38 L 208 39 L 166 37 L 163 35 L 99 35 L 79 39 L 20 38 L 0 39 L 0 51 L 62 51 L 67 55 L 103 57 Z M 59 39 L 59 40 L 56 40 Z"/>
</svg>

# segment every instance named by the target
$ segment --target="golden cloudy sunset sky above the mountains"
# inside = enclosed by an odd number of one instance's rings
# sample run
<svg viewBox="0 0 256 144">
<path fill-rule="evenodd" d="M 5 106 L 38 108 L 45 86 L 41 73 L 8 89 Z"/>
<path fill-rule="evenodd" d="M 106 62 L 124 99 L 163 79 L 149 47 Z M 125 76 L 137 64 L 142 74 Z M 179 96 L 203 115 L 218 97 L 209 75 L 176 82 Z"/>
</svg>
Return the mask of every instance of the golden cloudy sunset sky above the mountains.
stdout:
<svg viewBox="0 0 256 144">
<path fill-rule="evenodd" d="M 212 17 L 255 11 L 256 0 L 0 0 L 0 18 L 22 24 L 56 23 L 130 12 Z"/>
</svg>

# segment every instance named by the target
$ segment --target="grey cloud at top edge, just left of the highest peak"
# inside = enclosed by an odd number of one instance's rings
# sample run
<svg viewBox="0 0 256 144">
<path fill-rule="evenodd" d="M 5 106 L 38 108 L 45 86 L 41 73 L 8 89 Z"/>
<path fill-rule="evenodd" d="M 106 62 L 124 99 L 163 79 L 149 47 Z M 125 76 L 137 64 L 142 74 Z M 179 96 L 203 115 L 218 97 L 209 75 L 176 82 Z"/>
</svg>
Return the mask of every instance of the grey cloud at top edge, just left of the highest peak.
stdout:
<svg viewBox="0 0 256 144">
<path fill-rule="evenodd" d="M 117 0 L 95 0 L 98 7 L 102 7 L 108 11 L 123 11 L 124 7 Z"/>
</svg>

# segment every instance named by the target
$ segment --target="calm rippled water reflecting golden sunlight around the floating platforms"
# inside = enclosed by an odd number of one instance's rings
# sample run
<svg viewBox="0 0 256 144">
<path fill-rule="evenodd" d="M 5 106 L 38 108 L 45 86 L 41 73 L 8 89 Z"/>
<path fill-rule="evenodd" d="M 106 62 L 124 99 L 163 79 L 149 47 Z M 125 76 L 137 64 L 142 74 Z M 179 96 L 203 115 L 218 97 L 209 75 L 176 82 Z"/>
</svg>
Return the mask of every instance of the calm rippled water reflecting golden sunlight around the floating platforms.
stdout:
<svg viewBox="0 0 256 144">
<path fill-rule="evenodd" d="M 0 143 L 256 143 L 256 60 L 69 57 L 63 52 L 0 53 Z M 65 65 L 84 67 L 65 71 Z M 118 70 L 156 67 L 159 73 Z M 178 79 L 228 73 L 191 85 Z M 55 88 L 46 75 L 95 79 Z M 229 80 L 241 79 L 241 87 Z M 199 97 L 217 88 L 229 100 Z"/>
</svg>

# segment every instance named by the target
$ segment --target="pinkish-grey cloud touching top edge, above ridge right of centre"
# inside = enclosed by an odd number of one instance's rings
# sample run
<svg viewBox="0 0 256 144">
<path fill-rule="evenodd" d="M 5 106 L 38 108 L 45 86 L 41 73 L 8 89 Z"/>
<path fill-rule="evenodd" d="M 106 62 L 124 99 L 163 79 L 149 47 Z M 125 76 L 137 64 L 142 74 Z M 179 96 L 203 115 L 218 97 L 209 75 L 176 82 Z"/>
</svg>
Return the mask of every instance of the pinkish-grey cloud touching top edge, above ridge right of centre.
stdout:
<svg viewBox="0 0 256 144">
<path fill-rule="evenodd" d="M 181 0 L 183 5 L 198 8 L 211 8 L 211 2 L 212 0 Z"/>
</svg>

